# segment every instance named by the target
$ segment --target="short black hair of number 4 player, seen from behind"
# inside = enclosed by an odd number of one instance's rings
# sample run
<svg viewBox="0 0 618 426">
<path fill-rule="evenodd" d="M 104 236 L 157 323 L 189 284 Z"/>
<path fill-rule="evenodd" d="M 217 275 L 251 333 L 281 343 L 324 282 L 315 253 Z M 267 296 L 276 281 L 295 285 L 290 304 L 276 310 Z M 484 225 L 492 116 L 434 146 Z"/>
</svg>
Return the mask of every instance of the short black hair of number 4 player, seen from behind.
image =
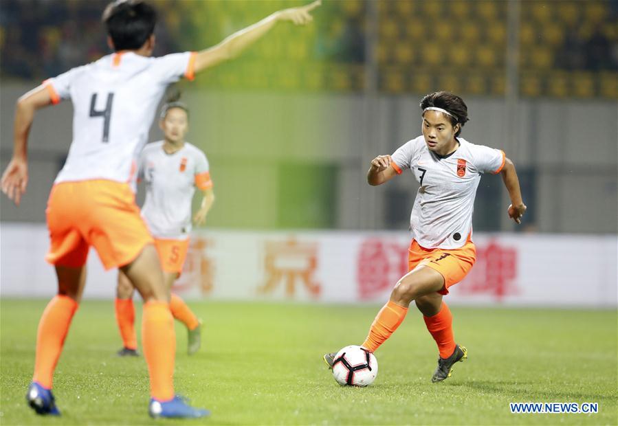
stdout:
<svg viewBox="0 0 618 426">
<path fill-rule="evenodd" d="M 135 50 L 155 32 L 157 11 L 142 0 L 117 0 L 107 5 L 102 21 L 116 52 Z"/>
</svg>

